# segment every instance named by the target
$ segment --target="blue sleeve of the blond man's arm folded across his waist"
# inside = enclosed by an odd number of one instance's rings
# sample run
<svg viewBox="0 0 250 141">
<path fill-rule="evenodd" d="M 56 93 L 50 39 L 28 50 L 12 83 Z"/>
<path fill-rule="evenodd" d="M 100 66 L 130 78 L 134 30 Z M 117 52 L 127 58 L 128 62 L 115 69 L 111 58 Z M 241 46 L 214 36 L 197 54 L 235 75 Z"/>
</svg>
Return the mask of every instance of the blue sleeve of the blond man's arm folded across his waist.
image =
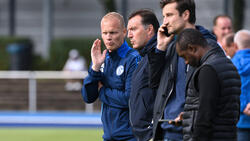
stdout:
<svg viewBox="0 0 250 141">
<path fill-rule="evenodd" d="M 125 78 L 124 89 L 113 89 L 103 86 L 100 91 L 100 99 L 103 103 L 117 108 L 128 108 L 128 101 L 131 92 L 131 79 L 134 70 L 138 64 L 138 58 L 134 58 L 129 66 L 127 66 L 127 75 Z"/>
</svg>

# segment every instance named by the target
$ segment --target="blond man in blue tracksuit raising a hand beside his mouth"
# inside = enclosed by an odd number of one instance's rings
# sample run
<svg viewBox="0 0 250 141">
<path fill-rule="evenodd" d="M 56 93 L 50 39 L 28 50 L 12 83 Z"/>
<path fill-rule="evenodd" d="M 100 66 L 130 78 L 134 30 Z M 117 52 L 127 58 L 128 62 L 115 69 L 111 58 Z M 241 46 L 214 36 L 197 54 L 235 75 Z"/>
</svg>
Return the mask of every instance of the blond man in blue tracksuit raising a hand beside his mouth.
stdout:
<svg viewBox="0 0 250 141">
<path fill-rule="evenodd" d="M 123 17 L 111 12 L 101 20 L 101 40 L 91 48 L 92 65 L 84 79 L 82 96 L 87 103 L 102 102 L 104 141 L 135 141 L 129 123 L 131 78 L 140 56 L 124 40 L 127 34 Z"/>
</svg>

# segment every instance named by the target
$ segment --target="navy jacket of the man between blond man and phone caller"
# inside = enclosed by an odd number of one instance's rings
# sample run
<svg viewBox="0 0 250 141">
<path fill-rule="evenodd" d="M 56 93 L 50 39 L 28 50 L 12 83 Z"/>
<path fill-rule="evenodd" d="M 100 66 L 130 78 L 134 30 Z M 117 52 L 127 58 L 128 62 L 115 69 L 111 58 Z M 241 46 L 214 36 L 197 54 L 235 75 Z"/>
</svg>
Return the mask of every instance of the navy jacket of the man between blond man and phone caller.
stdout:
<svg viewBox="0 0 250 141">
<path fill-rule="evenodd" d="M 133 73 L 129 101 L 130 122 L 137 141 L 152 138 L 153 107 L 156 90 L 149 88 L 147 53 L 155 48 L 157 36 L 153 36 L 146 46 L 139 50 L 142 60 Z"/>
</svg>

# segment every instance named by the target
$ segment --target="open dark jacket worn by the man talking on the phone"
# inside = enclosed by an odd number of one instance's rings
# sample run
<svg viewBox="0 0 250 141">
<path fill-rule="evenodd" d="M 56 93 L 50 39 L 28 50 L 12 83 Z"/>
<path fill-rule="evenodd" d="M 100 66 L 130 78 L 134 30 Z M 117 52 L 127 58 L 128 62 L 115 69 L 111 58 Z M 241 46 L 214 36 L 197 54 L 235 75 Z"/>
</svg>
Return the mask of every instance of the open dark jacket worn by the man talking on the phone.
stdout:
<svg viewBox="0 0 250 141">
<path fill-rule="evenodd" d="M 197 26 L 196 29 L 198 29 L 206 39 L 214 40 L 216 43 L 216 38 L 208 30 L 200 26 Z M 163 130 L 161 129 L 159 120 L 163 118 L 165 106 L 171 99 L 171 95 L 175 94 L 176 69 L 178 65 L 175 41 L 169 44 L 166 54 L 159 54 L 153 50 L 150 52 L 148 58 L 150 87 L 154 89 L 158 88 L 153 115 L 153 139 L 163 140 Z M 190 69 L 187 73 L 187 77 L 191 76 L 192 73 L 193 69 Z M 185 88 L 183 88 L 183 91 L 185 91 Z"/>
</svg>

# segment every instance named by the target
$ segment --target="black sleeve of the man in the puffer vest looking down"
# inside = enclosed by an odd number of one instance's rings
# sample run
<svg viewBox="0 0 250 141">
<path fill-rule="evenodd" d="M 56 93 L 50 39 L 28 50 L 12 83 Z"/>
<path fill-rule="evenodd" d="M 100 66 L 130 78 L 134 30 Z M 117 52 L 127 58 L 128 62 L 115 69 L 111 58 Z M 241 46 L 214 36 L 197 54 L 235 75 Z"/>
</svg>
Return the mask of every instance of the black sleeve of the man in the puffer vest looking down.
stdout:
<svg viewBox="0 0 250 141">
<path fill-rule="evenodd" d="M 216 114 L 216 101 L 220 93 L 220 84 L 217 74 L 211 66 L 201 68 L 197 79 L 200 107 L 195 122 L 194 138 L 197 141 L 209 141 L 212 134 L 212 121 Z"/>
</svg>

